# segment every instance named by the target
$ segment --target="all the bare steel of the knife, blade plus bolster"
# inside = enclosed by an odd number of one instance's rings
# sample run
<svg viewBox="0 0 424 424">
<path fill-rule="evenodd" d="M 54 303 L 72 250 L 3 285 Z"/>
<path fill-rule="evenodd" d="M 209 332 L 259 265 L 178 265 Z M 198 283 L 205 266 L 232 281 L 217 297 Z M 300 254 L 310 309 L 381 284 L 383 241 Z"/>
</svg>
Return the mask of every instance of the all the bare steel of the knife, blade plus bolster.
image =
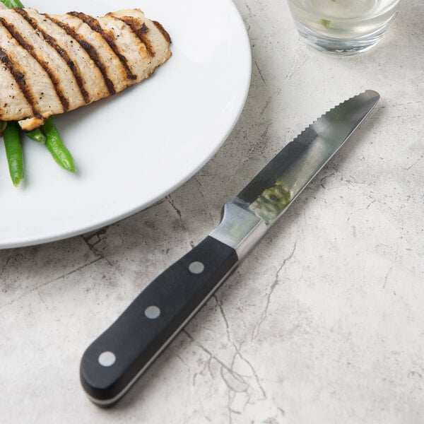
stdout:
<svg viewBox="0 0 424 424">
<path fill-rule="evenodd" d="M 288 143 L 232 201 L 211 232 L 245 257 L 377 105 L 367 90 L 329 110 Z"/>
</svg>

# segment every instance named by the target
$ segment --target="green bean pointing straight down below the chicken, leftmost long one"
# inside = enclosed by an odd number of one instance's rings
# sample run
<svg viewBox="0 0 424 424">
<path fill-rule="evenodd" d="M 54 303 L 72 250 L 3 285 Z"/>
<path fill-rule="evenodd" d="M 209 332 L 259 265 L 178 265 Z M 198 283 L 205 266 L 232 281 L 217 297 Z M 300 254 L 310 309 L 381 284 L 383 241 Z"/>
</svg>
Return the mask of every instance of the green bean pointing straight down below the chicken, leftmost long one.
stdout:
<svg viewBox="0 0 424 424">
<path fill-rule="evenodd" d="M 22 146 L 20 145 L 20 137 L 18 124 L 16 122 L 8 122 L 3 134 L 4 147 L 6 148 L 6 157 L 9 173 L 13 185 L 18 187 L 23 179 L 23 157 Z"/>
</svg>

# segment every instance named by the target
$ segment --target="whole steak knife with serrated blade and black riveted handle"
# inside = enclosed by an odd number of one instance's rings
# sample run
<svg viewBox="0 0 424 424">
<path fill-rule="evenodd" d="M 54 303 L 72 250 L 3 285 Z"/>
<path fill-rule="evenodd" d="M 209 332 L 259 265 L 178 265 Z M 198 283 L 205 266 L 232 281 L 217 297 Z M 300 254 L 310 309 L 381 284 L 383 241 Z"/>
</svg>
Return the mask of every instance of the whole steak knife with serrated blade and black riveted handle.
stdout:
<svg viewBox="0 0 424 424">
<path fill-rule="evenodd" d="M 367 90 L 329 110 L 302 131 L 225 204 L 220 225 L 155 278 L 87 348 L 80 377 L 91 401 L 111 406 L 126 393 L 378 100 L 377 92 Z"/>
</svg>

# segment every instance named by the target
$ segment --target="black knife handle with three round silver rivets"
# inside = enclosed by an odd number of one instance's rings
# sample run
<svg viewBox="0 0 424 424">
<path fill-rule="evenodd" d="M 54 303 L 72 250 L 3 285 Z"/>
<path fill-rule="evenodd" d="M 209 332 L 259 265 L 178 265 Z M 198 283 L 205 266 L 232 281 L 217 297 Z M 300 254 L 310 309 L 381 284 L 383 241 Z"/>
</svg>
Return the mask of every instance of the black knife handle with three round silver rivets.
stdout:
<svg viewBox="0 0 424 424">
<path fill-rule="evenodd" d="M 235 249 L 206 237 L 150 283 L 83 354 L 81 384 L 100 406 L 119 400 L 237 264 Z"/>
</svg>

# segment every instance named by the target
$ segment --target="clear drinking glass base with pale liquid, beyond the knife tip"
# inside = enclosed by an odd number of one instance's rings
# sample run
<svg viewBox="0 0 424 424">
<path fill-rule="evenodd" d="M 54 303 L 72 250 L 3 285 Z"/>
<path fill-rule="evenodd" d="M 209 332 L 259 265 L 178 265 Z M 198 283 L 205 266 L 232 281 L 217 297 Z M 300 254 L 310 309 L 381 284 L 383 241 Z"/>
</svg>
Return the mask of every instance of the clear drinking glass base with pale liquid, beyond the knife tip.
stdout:
<svg viewBox="0 0 424 424">
<path fill-rule="evenodd" d="M 357 54 L 381 40 L 400 0 L 288 0 L 303 39 L 322 52 Z"/>
</svg>

